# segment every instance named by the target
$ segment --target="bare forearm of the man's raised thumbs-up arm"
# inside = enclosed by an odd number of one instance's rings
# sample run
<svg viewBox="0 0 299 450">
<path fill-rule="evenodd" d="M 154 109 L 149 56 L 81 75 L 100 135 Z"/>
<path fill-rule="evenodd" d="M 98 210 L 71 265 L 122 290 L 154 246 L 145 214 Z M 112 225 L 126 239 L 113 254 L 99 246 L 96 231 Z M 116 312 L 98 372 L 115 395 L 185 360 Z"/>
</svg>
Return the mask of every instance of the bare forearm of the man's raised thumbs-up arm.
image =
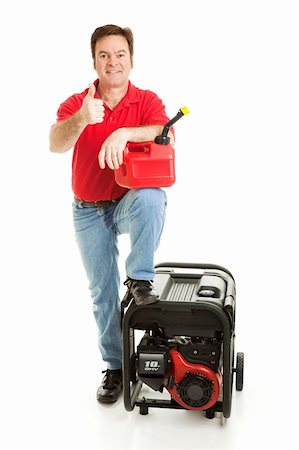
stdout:
<svg viewBox="0 0 299 450">
<path fill-rule="evenodd" d="M 80 110 L 70 118 L 54 124 L 50 130 L 50 151 L 64 153 L 74 147 L 86 125 Z"/>
</svg>

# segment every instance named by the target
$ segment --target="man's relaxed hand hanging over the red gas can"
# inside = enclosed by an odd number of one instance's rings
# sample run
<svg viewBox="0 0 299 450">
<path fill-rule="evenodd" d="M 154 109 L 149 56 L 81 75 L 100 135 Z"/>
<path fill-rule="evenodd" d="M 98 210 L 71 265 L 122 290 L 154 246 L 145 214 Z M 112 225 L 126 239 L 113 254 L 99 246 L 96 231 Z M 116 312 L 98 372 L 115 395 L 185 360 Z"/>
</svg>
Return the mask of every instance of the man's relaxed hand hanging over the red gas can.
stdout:
<svg viewBox="0 0 299 450">
<path fill-rule="evenodd" d="M 123 163 L 123 151 L 128 142 L 126 128 L 118 128 L 107 137 L 99 152 L 99 164 L 101 169 L 105 168 L 105 161 L 110 169 L 118 169 Z"/>
</svg>

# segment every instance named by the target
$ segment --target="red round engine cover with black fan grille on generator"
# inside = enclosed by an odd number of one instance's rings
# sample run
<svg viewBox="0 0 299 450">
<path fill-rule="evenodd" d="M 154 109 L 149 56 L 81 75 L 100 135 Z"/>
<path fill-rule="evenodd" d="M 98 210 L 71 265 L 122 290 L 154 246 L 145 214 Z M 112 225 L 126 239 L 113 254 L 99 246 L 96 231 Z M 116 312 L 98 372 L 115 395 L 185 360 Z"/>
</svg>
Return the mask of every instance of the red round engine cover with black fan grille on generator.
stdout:
<svg viewBox="0 0 299 450">
<path fill-rule="evenodd" d="M 177 350 L 170 350 L 172 387 L 166 387 L 171 397 L 186 409 L 202 411 L 219 398 L 222 375 L 202 364 L 189 363 Z"/>
</svg>

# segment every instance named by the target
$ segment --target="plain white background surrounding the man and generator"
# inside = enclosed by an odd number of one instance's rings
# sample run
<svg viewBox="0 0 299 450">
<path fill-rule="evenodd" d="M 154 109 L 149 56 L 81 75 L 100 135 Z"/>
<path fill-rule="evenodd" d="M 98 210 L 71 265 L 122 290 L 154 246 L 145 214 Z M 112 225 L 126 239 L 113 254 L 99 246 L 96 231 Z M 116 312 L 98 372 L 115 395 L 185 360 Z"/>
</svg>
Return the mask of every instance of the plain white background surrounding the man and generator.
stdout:
<svg viewBox="0 0 299 450">
<path fill-rule="evenodd" d="M 48 151 L 59 104 L 96 78 L 89 40 L 135 35 L 133 83 L 176 125 L 176 184 L 157 262 L 210 262 L 237 283 L 243 392 L 201 413 L 103 407 L 71 219 L 71 152 Z M 298 448 L 298 2 L 66 1 L 1 6 L 3 449 Z M 120 268 L 128 252 L 120 240 Z"/>
</svg>

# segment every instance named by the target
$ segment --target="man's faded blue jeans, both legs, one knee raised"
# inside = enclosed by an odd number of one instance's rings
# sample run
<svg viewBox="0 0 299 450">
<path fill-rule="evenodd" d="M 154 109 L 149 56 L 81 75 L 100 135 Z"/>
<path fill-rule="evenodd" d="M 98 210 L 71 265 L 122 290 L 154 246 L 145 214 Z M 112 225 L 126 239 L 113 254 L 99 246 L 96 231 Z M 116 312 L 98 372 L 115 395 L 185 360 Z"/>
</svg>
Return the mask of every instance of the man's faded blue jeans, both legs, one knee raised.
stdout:
<svg viewBox="0 0 299 450">
<path fill-rule="evenodd" d="M 130 190 L 119 202 L 104 207 L 73 203 L 76 241 L 89 280 L 99 349 L 108 369 L 122 365 L 117 236 L 130 235 L 127 276 L 153 280 L 154 252 L 163 230 L 166 204 L 161 189 Z"/>
</svg>

